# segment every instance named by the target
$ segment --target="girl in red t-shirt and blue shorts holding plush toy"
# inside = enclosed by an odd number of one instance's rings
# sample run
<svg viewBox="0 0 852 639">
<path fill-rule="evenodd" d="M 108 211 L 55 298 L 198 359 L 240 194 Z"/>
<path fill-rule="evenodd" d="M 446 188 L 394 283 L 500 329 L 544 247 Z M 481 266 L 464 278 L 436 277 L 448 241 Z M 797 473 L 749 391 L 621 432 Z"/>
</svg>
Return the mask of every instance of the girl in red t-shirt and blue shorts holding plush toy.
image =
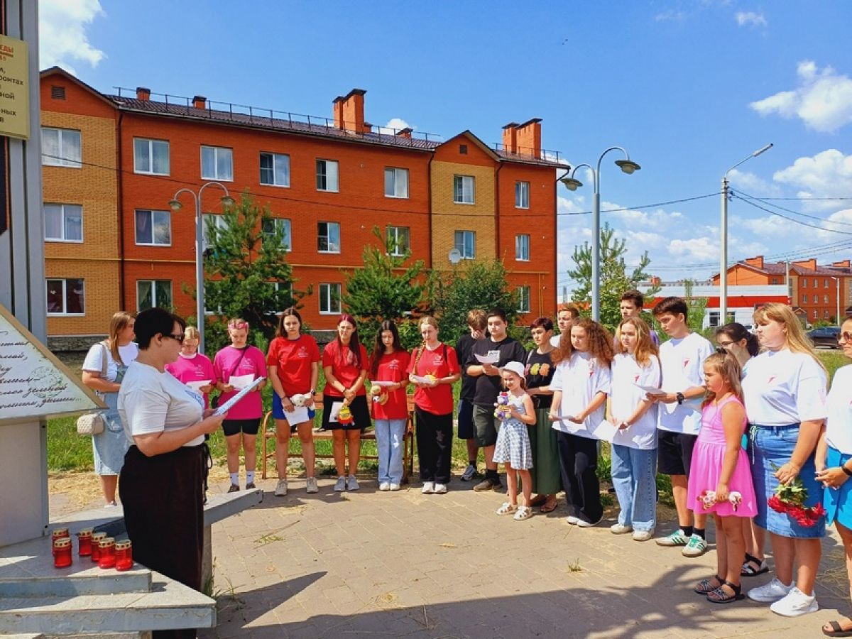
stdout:
<svg viewBox="0 0 852 639">
<path fill-rule="evenodd" d="M 305 462 L 305 492 L 318 492 L 314 457 L 314 395 L 320 379 L 320 347 L 314 337 L 302 335 L 302 316 L 285 308 L 267 354 L 272 382 L 272 415 L 275 419 L 275 496 L 287 494 L 287 453 L 291 430 L 299 434 Z"/>
</svg>

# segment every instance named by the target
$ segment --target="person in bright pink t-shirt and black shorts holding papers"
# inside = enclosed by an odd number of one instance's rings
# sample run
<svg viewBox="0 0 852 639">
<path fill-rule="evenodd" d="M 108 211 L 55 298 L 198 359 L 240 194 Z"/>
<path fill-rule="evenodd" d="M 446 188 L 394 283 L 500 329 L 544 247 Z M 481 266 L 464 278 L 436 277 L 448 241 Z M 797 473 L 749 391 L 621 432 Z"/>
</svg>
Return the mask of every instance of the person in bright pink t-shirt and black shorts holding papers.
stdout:
<svg viewBox="0 0 852 639">
<path fill-rule="evenodd" d="M 261 349 L 247 343 L 249 323 L 245 320 L 231 320 L 227 324 L 227 334 L 231 338 L 231 345 L 222 348 L 213 359 L 216 389 L 222 392 L 219 397 L 220 405 L 257 378 L 267 377 L 266 358 L 263 357 Z M 245 487 L 255 487 L 257 430 L 263 416 L 260 392 L 264 386 L 266 380 L 239 400 L 228 412 L 227 419 L 222 422 L 227 444 L 227 472 L 231 475 L 231 487 L 227 492 L 239 491 L 240 445 L 245 453 Z"/>
</svg>

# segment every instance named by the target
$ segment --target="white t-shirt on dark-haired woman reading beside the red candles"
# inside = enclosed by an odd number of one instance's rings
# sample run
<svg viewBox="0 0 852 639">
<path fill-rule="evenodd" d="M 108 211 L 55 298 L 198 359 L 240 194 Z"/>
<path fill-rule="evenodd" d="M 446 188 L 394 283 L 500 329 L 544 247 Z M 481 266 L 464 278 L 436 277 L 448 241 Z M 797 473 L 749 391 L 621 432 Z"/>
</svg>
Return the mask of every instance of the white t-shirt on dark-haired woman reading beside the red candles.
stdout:
<svg viewBox="0 0 852 639">
<path fill-rule="evenodd" d="M 199 423 L 204 413 L 201 394 L 178 382 L 169 371 L 160 372 L 138 361 L 128 366 L 118 391 L 118 414 L 132 446 L 134 435 L 181 430 Z M 199 446 L 204 435 L 184 446 Z"/>
</svg>

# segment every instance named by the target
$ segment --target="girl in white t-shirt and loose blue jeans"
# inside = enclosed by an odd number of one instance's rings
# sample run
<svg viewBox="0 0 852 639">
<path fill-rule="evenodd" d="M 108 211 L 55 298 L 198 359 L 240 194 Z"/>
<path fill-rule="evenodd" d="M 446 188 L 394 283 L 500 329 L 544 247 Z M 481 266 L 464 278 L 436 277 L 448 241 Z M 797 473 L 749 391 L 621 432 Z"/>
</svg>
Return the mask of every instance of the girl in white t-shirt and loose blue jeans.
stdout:
<svg viewBox="0 0 852 639">
<path fill-rule="evenodd" d="M 607 419 L 619 429 L 612 473 L 621 511 L 610 530 L 648 541 L 657 524 L 657 406 L 641 387 L 659 388 L 662 370 L 651 331 L 639 318 L 619 324 L 615 351 Z"/>
</svg>

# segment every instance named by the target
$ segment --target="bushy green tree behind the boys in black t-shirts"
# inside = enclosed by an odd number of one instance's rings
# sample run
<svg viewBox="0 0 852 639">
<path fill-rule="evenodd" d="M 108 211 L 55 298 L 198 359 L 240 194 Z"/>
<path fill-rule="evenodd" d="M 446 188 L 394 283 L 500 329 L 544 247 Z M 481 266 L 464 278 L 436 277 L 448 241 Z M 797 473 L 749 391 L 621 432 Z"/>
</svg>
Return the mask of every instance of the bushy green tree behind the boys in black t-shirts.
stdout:
<svg viewBox="0 0 852 639">
<path fill-rule="evenodd" d="M 440 339 L 450 344 L 468 331 L 468 311 L 502 308 L 512 325 L 517 317 L 518 299 L 509 288 L 503 262 L 472 262 L 457 267 L 449 275 L 434 273 L 430 282 L 432 313 L 440 325 Z"/>
</svg>

